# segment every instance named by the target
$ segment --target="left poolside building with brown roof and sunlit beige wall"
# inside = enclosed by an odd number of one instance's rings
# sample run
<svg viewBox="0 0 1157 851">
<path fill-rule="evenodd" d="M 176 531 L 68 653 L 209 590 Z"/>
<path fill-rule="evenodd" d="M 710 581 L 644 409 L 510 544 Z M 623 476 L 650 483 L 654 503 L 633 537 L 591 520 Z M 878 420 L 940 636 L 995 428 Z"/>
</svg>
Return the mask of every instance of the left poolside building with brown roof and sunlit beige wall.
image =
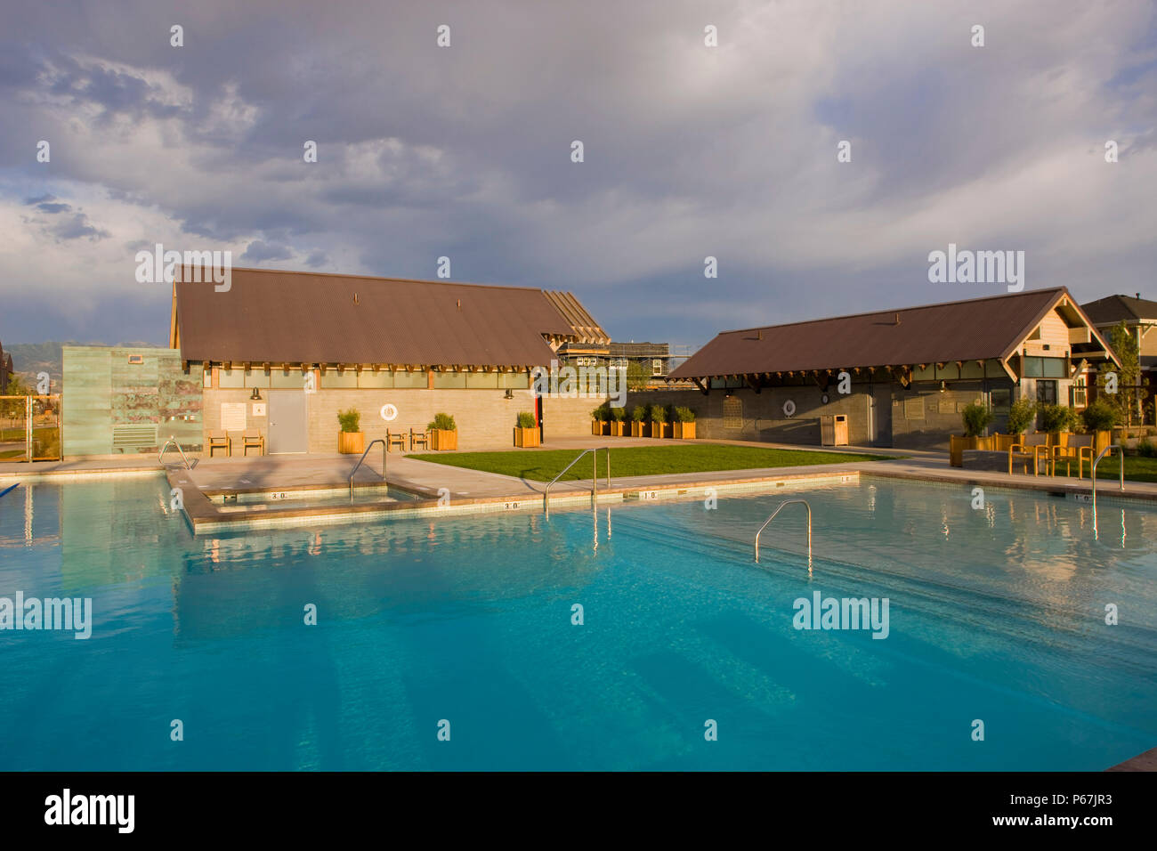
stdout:
<svg viewBox="0 0 1157 851">
<path fill-rule="evenodd" d="M 462 448 L 590 433 L 599 399 L 539 396 L 536 367 L 609 338 L 570 293 L 533 287 L 234 269 L 174 285 L 170 347 L 202 381 L 204 428 L 259 430 L 271 453 L 333 453 L 338 412 L 366 440 L 455 417 Z"/>
</svg>

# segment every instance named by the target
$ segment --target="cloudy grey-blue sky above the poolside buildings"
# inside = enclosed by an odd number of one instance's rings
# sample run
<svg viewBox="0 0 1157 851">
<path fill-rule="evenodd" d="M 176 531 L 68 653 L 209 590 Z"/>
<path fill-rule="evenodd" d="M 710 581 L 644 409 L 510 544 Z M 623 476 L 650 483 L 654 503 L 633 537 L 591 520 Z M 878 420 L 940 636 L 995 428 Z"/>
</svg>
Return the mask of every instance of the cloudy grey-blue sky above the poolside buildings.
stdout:
<svg viewBox="0 0 1157 851">
<path fill-rule="evenodd" d="M 448 256 L 455 280 L 570 289 L 616 339 L 683 344 L 1003 291 L 930 284 L 950 242 L 1025 251 L 1029 288 L 1157 298 L 1151 0 L 42 0 L 3 21 L 6 344 L 167 342 L 168 288 L 134 278 L 157 242 L 410 278 Z"/>
</svg>

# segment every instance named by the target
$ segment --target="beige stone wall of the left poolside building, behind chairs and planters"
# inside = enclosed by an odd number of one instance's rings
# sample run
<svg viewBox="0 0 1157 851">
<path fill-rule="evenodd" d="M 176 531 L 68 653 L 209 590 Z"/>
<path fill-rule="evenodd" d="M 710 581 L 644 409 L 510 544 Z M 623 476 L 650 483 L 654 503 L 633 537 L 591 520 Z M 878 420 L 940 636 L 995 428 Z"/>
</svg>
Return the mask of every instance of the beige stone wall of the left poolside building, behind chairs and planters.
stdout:
<svg viewBox="0 0 1157 851">
<path fill-rule="evenodd" d="M 244 402 L 246 426 L 260 428 L 268 439 L 268 418 L 252 416 L 251 389 L 205 390 L 205 428 L 221 427 L 221 404 Z M 263 403 L 267 405 L 270 393 L 261 390 Z M 367 443 L 376 438 L 385 438 L 386 430 L 404 432 L 425 428 L 439 412 L 449 413 L 458 426 L 459 449 L 514 447 L 514 426 L 519 411 L 535 410 L 531 390 L 513 390 L 514 398 L 506 398 L 506 390 L 432 390 L 432 389 L 381 389 L 339 390 L 320 389 L 308 395 L 309 452 L 336 453 L 338 450 L 338 411 L 356 408 L 361 412 L 361 430 Z M 381 409 L 385 404 L 398 409 L 395 420 L 382 419 Z M 598 405 L 591 398 L 544 399 L 543 425 L 546 441 L 560 436 L 590 434 L 590 411 Z M 267 408 L 266 408 L 267 410 Z M 239 441 L 241 434 L 233 436 Z"/>
</svg>

